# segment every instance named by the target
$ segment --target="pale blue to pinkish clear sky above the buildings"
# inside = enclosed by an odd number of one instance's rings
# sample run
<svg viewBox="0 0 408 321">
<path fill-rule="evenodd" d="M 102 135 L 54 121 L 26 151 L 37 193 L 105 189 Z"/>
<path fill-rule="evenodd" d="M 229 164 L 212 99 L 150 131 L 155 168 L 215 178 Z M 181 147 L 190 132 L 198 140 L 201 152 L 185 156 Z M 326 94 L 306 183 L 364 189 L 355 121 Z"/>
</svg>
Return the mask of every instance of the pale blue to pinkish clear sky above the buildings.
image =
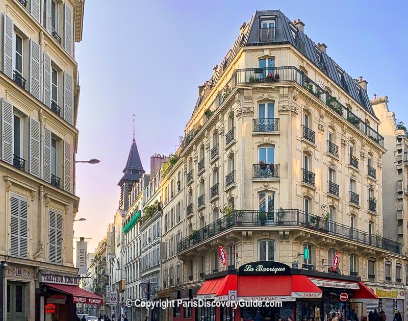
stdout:
<svg viewBox="0 0 408 321">
<path fill-rule="evenodd" d="M 280 9 L 300 18 L 304 32 L 327 45 L 353 78 L 368 81 L 372 97 L 408 124 L 404 81 L 408 74 L 406 1 L 194 1 L 86 0 L 79 64 L 77 195 L 74 237 L 93 252 L 106 235 L 119 201 L 133 136 L 146 172 L 150 156 L 174 152 L 198 96 L 256 10 Z M 402 91 L 401 91 L 402 90 Z"/>
</svg>

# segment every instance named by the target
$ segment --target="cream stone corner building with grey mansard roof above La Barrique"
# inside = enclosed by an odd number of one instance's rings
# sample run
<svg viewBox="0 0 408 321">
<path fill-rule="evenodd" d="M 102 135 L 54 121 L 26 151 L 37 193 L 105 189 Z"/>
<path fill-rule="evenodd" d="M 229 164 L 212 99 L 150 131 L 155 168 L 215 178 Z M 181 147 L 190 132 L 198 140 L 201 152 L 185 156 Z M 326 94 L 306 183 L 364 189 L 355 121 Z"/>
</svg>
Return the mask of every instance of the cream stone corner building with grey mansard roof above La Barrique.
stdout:
<svg viewBox="0 0 408 321">
<path fill-rule="evenodd" d="M 379 307 L 406 313 L 402 244 L 383 235 L 386 148 L 367 81 L 349 76 L 304 27 L 281 11 L 257 11 L 199 87 L 174 164 L 185 168 L 176 254 L 186 277 L 169 297 L 225 300 L 235 289 L 238 299 L 285 301 L 282 310 L 265 311 L 273 319 L 279 311 L 295 320 L 330 309 L 344 317 Z M 281 266 L 290 278 L 254 275 L 257 264 Z M 289 284 L 298 279 L 302 290 Z M 230 287 L 211 292 L 216 284 Z M 173 319 L 232 317 L 218 308 L 167 312 Z M 235 319 L 254 313 L 239 309 Z"/>
</svg>

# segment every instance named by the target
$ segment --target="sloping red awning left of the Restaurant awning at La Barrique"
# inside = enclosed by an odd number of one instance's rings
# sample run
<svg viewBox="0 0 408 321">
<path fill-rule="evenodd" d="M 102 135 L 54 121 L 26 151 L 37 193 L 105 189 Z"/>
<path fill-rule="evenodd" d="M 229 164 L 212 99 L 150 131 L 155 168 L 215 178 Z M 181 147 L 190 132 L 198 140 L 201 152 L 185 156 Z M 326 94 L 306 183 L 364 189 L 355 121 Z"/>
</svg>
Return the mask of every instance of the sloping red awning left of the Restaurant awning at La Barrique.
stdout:
<svg viewBox="0 0 408 321">
<path fill-rule="evenodd" d="M 197 299 L 228 300 L 228 291 L 237 289 L 237 275 L 206 280 L 197 292 Z"/>
</svg>

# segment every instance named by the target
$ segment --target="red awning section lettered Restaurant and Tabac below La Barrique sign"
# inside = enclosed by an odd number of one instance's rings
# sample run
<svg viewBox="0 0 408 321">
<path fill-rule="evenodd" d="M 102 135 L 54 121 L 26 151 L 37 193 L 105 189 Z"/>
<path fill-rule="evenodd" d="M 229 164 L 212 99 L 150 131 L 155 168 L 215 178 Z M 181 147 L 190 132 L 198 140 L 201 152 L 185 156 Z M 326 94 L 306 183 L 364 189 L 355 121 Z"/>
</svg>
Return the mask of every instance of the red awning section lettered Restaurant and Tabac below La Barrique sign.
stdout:
<svg viewBox="0 0 408 321">
<path fill-rule="evenodd" d="M 322 290 L 302 275 L 240 276 L 237 290 L 238 299 L 249 301 L 295 301 L 322 296 Z"/>
</svg>

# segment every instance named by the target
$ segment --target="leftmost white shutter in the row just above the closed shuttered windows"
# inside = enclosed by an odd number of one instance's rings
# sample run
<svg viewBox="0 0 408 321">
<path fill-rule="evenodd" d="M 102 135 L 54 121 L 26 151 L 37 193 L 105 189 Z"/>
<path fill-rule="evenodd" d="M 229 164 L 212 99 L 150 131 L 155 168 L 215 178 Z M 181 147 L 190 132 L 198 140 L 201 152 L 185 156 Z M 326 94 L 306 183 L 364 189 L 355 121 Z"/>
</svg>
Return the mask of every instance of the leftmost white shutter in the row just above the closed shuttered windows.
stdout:
<svg viewBox="0 0 408 321">
<path fill-rule="evenodd" d="M 13 163 L 13 105 L 2 98 L 2 160 Z"/>
</svg>

